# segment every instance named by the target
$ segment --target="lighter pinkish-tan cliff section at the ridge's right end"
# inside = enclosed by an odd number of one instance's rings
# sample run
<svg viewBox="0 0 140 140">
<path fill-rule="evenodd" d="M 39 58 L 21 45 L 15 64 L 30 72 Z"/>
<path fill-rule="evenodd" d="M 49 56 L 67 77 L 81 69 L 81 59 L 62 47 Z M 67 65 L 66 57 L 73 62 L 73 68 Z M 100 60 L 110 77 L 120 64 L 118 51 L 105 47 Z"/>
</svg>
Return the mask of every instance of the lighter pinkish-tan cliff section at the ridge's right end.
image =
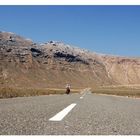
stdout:
<svg viewBox="0 0 140 140">
<path fill-rule="evenodd" d="M 120 85 L 140 84 L 140 59 L 103 57 L 108 77 Z"/>
</svg>

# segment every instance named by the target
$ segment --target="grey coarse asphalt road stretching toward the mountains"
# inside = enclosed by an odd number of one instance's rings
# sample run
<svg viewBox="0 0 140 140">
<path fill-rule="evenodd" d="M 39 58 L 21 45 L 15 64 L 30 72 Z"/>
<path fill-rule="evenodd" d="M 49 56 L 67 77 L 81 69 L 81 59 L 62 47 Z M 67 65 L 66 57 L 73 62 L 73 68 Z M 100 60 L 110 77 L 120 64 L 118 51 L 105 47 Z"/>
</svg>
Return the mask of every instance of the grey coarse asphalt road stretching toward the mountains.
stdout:
<svg viewBox="0 0 140 140">
<path fill-rule="evenodd" d="M 72 104 L 75 105 L 67 112 Z M 52 121 L 56 115 L 61 120 Z M 96 95 L 89 91 L 1 99 L 0 134 L 139 135 L 140 99 Z"/>
</svg>

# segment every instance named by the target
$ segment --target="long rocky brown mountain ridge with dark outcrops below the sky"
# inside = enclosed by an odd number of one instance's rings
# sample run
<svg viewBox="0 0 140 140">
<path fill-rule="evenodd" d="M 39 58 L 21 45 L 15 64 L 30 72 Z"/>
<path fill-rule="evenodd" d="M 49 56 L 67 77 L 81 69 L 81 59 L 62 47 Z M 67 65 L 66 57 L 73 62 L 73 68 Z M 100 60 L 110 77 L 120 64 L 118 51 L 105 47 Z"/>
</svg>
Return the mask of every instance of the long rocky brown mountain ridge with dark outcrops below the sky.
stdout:
<svg viewBox="0 0 140 140">
<path fill-rule="evenodd" d="M 0 85 L 74 88 L 140 84 L 140 59 L 100 55 L 61 42 L 36 44 L 0 32 Z"/>
</svg>

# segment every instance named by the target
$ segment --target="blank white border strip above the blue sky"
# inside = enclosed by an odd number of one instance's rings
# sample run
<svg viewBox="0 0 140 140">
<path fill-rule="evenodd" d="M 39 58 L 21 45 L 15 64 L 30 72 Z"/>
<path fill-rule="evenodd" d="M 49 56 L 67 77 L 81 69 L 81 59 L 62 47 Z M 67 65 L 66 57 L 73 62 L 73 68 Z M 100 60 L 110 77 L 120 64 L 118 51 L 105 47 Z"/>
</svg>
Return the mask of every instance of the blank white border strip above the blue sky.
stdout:
<svg viewBox="0 0 140 140">
<path fill-rule="evenodd" d="M 0 5 L 140 5 L 140 0 L 0 0 Z"/>
</svg>

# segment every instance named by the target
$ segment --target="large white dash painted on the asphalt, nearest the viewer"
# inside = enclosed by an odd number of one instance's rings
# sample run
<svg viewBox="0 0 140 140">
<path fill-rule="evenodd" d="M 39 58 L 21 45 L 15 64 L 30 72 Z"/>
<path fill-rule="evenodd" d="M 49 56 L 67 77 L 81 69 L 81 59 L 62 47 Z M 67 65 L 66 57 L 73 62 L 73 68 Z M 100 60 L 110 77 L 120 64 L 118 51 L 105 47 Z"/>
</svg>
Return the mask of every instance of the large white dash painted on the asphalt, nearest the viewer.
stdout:
<svg viewBox="0 0 140 140">
<path fill-rule="evenodd" d="M 69 105 L 68 107 L 57 113 L 54 117 L 50 118 L 49 121 L 61 121 L 75 106 L 75 103 Z"/>
</svg>

